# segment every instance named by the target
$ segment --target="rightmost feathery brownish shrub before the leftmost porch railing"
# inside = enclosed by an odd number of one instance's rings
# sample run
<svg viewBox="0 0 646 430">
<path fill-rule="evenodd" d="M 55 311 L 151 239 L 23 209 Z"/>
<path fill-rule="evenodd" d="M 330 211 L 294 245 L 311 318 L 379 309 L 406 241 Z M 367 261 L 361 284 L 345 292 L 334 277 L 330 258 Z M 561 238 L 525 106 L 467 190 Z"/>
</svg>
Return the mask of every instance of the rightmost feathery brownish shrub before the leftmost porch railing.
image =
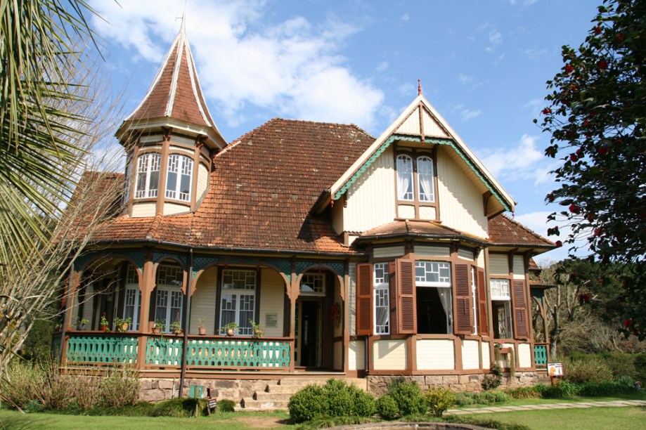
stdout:
<svg viewBox="0 0 646 430">
<path fill-rule="evenodd" d="M 108 408 L 122 408 L 134 405 L 139 400 L 141 382 L 138 371 L 133 366 L 112 367 L 105 373 L 99 391 L 100 405 Z"/>
</svg>

